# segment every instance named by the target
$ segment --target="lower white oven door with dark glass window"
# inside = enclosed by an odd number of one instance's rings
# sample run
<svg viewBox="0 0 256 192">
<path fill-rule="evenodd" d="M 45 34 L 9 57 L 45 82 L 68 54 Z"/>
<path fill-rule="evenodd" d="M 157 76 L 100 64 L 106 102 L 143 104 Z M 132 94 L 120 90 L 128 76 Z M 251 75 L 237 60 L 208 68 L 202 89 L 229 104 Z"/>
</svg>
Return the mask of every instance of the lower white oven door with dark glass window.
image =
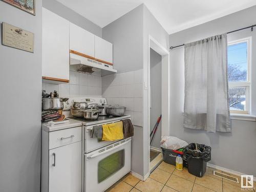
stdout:
<svg viewBox="0 0 256 192">
<path fill-rule="evenodd" d="M 131 170 L 131 138 L 84 154 L 84 189 L 101 192 Z"/>
</svg>

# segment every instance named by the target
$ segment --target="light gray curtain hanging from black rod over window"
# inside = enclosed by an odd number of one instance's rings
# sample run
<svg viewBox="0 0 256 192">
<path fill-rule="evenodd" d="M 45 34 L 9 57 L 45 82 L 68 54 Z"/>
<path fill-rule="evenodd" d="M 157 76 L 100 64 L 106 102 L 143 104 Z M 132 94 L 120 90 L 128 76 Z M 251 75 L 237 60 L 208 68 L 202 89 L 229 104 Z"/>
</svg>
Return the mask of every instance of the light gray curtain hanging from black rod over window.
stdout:
<svg viewBox="0 0 256 192">
<path fill-rule="evenodd" d="M 227 34 L 185 44 L 185 128 L 231 132 Z"/>
</svg>

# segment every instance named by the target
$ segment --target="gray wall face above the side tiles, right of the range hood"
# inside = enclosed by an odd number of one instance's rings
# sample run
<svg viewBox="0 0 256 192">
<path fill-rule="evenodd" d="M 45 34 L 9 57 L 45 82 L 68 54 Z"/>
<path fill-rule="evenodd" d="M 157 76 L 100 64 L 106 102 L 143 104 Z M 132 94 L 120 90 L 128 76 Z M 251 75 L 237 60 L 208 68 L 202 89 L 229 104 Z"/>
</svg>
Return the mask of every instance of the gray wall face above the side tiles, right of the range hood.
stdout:
<svg viewBox="0 0 256 192">
<path fill-rule="evenodd" d="M 143 5 L 105 26 L 102 38 L 114 45 L 113 62 L 118 73 L 143 69 Z"/>
</svg>

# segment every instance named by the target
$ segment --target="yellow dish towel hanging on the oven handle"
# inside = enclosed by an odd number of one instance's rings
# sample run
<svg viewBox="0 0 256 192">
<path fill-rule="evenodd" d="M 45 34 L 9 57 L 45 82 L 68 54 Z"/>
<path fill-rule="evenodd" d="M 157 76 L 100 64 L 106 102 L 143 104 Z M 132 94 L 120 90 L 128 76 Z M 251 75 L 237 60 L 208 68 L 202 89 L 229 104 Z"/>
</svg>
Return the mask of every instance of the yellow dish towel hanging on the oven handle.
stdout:
<svg viewBox="0 0 256 192">
<path fill-rule="evenodd" d="M 102 125 L 102 141 L 123 139 L 123 122 Z"/>
</svg>

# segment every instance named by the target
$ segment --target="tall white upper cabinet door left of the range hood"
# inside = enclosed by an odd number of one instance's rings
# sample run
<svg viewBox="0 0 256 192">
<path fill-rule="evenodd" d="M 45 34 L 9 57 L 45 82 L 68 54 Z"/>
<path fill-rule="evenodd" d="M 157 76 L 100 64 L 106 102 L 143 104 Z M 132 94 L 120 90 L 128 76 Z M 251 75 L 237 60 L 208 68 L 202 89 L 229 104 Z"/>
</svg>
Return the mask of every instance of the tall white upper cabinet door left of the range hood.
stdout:
<svg viewBox="0 0 256 192">
<path fill-rule="evenodd" d="M 45 8 L 42 8 L 42 76 L 69 80 L 69 21 Z"/>
</svg>

